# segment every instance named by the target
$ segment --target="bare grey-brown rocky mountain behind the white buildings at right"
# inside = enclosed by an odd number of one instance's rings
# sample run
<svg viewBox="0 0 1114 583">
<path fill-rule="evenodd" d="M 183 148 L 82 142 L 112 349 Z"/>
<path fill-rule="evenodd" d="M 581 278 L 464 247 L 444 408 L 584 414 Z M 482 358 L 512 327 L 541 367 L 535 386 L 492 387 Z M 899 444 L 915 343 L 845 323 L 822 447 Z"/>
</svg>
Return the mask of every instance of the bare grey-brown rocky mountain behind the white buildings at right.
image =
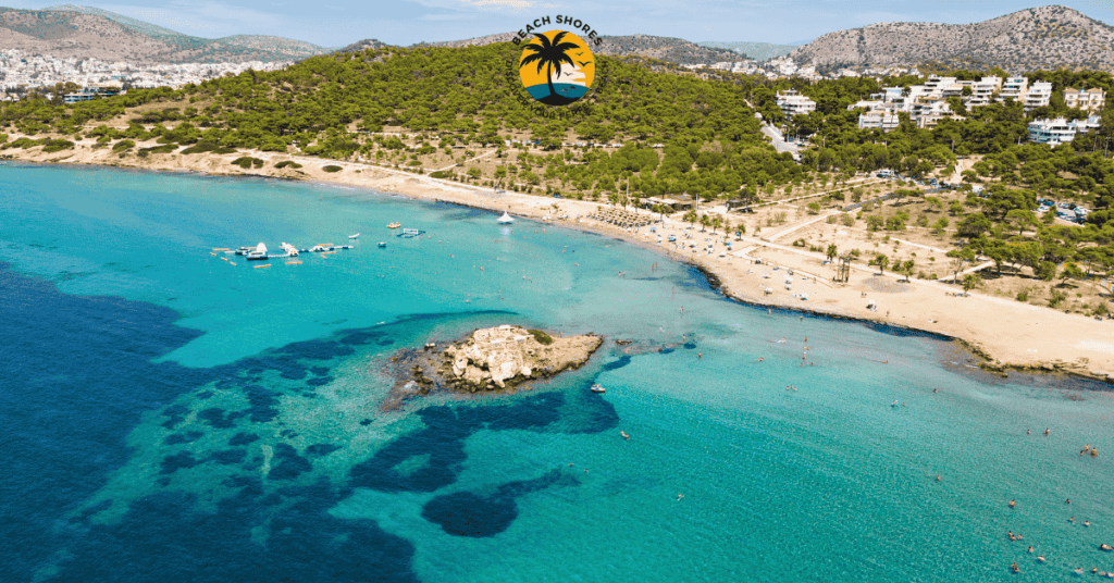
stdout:
<svg viewBox="0 0 1114 583">
<path fill-rule="evenodd" d="M 1046 6 L 971 25 L 893 22 L 840 30 L 789 56 L 819 68 L 1114 71 L 1114 27 L 1067 7 Z"/>
</svg>

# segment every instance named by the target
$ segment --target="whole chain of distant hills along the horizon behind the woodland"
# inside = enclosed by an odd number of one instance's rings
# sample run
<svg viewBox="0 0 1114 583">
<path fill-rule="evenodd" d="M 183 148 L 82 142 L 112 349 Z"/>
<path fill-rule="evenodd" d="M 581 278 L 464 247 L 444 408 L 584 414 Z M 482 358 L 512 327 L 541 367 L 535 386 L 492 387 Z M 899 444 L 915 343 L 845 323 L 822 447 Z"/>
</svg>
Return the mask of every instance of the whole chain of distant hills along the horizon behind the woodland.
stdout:
<svg viewBox="0 0 1114 583">
<path fill-rule="evenodd" d="M 468 47 L 507 42 L 514 32 L 417 46 Z M 342 49 L 257 35 L 218 39 L 180 32 L 96 8 L 62 4 L 42 10 L 0 8 L 0 49 L 59 58 L 134 64 L 301 60 L 330 52 L 388 46 L 375 39 Z M 670 37 L 604 37 L 593 51 L 643 56 L 677 65 L 758 60 L 788 55 L 821 70 L 840 67 L 922 67 L 928 70 L 1001 67 L 1008 72 L 1087 68 L 1114 71 L 1114 27 L 1071 8 L 1046 6 L 971 25 L 877 23 L 830 32 L 803 46 L 768 42 L 691 42 Z"/>
</svg>

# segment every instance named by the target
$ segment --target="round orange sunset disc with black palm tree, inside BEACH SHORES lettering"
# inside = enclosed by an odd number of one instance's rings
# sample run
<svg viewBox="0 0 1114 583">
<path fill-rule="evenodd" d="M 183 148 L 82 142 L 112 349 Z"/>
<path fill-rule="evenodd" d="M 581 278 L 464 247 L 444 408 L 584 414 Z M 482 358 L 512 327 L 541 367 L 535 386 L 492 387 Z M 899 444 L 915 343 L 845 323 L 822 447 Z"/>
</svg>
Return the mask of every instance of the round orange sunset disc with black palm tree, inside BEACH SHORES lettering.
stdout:
<svg viewBox="0 0 1114 583">
<path fill-rule="evenodd" d="M 518 76 L 530 97 L 568 105 L 584 97 L 596 76 L 596 60 L 580 37 L 564 30 L 535 32 L 522 49 Z"/>
</svg>

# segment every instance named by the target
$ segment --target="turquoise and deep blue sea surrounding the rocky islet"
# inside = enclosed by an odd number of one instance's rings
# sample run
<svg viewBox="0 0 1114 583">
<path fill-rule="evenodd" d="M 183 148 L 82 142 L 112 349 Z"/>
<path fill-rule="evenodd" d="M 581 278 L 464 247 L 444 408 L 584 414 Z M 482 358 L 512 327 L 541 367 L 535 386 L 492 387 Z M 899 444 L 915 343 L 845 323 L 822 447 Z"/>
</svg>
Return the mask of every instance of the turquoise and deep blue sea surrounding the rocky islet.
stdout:
<svg viewBox="0 0 1114 583">
<path fill-rule="evenodd" d="M 740 305 L 648 251 L 495 218 L 0 164 L 0 581 L 1114 571 L 1107 386 L 999 379 L 939 338 Z M 300 265 L 211 254 L 356 232 Z M 380 410 L 399 350 L 497 323 L 607 342 L 532 390 Z"/>
</svg>

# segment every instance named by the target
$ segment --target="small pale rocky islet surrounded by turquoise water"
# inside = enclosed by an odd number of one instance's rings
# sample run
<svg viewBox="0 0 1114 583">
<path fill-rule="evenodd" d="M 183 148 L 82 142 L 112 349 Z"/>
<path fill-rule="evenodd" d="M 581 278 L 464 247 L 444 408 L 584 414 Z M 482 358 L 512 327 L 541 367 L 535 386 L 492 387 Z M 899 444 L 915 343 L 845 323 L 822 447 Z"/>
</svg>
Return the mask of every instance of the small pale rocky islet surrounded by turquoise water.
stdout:
<svg viewBox="0 0 1114 583">
<path fill-rule="evenodd" d="M 583 367 L 603 343 L 594 333 L 563 337 L 510 324 L 478 328 L 455 342 L 429 342 L 390 359 L 395 382 L 381 409 L 437 392 L 514 390 Z"/>
</svg>

